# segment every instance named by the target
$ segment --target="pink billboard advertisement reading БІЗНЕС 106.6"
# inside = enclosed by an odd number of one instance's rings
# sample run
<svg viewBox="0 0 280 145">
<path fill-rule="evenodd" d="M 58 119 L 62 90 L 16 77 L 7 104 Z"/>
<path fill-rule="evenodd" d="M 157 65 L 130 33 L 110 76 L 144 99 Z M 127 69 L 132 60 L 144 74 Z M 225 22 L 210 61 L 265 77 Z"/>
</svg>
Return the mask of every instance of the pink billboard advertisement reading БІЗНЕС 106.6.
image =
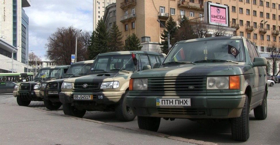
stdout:
<svg viewBox="0 0 280 145">
<path fill-rule="evenodd" d="M 226 24 L 226 8 L 210 5 L 210 22 Z"/>
</svg>

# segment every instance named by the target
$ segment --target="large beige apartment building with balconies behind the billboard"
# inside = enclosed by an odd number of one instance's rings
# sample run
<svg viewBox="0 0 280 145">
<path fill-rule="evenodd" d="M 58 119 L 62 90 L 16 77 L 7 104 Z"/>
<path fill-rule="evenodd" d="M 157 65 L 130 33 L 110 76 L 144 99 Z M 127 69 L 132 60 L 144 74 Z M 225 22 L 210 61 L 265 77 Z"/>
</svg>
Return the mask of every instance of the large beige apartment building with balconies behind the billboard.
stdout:
<svg viewBox="0 0 280 145">
<path fill-rule="evenodd" d="M 228 6 L 227 34 L 250 39 L 261 52 L 269 51 L 267 47 L 279 47 L 279 0 L 121 0 L 116 3 L 116 23 L 123 41 L 135 33 L 142 50 L 159 52 L 160 34 L 165 28 L 157 19 L 165 23 L 171 15 L 179 23 L 186 15 L 192 21 L 204 21 L 205 2 Z"/>
</svg>

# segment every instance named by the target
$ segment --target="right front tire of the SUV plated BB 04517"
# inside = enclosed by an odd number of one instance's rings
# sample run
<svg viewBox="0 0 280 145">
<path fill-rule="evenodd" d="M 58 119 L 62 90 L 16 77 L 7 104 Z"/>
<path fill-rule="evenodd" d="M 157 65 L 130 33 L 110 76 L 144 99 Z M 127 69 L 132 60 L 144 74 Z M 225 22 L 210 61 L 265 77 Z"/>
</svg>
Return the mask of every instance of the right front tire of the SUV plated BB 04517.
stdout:
<svg viewBox="0 0 280 145">
<path fill-rule="evenodd" d="M 133 113 L 132 109 L 127 105 L 126 96 L 128 95 L 128 91 L 125 91 L 123 96 L 121 97 L 120 103 L 115 106 L 115 113 L 117 118 L 120 121 L 132 121 L 136 117 Z"/>
</svg>

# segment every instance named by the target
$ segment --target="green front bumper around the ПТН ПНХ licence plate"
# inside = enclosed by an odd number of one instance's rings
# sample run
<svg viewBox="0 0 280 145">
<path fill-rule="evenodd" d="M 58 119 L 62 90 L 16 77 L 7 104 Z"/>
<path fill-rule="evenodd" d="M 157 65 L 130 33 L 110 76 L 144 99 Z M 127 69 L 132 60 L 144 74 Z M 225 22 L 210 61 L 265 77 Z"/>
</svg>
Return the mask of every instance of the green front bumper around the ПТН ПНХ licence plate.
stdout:
<svg viewBox="0 0 280 145">
<path fill-rule="evenodd" d="M 178 99 L 179 97 L 127 96 L 127 103 L 138 116 L 166 118 L 233 118 L 241 115 L 246 95 L 235 96 L 185 96 L 191 106 L 156 106 L 157 98 Z"/>
</svg>

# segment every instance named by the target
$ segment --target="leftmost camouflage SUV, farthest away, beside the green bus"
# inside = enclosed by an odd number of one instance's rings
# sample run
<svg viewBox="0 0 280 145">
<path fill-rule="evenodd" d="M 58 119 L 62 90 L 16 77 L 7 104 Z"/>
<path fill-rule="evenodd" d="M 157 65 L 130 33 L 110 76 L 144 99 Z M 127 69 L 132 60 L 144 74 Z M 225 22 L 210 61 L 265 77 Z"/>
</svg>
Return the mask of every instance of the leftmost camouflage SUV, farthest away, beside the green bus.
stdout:
<svg viewBox="0 0 280 145">
<path fill-rule="evenodd" d="M 69 67 L 70 65 L 44 67 L 38 71 L 34 81 L 18 83 L 13 91 L 18 105 L 28 106 L 31 101 L 43 101 L 39 94 L 40 82 L 64 78 Z"/>
</svg>

